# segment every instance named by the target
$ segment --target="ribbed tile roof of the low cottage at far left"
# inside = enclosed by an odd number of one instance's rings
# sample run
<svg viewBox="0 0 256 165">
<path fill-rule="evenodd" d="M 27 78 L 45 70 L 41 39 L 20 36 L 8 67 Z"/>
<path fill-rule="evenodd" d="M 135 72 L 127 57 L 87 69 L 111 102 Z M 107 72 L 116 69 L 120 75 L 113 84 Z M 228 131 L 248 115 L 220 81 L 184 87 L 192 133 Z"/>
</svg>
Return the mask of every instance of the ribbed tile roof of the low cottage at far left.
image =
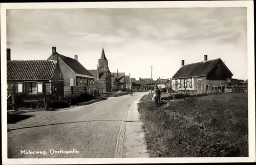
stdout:
<svg viewBox="0 0 256 165">
<path fill-rule="evenodd" d="M 56 64 L 49 60 L 7 61 L 7 80 L 51 80 Z"/>
</svg>

